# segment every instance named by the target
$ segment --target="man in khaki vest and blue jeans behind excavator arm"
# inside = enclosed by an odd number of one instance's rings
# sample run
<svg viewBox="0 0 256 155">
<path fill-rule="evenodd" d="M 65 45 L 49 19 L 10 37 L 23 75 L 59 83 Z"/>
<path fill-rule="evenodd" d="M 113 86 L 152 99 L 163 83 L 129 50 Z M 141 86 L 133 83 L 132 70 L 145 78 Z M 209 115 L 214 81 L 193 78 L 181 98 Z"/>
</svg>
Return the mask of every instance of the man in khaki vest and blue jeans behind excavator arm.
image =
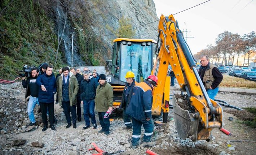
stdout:
<svg viewBox="0 0 256 155">
<path fill-rule="evenodd" d="M 209 62 L 208 56 L 203 55 L 200 60 L 201 66 L 198 70 L 198 74 L 204 84 L 209 98 L 214 99 L 219 92 L 219 84 L 223 79 L 223 75 L 217 66 Z"/>
</svg>

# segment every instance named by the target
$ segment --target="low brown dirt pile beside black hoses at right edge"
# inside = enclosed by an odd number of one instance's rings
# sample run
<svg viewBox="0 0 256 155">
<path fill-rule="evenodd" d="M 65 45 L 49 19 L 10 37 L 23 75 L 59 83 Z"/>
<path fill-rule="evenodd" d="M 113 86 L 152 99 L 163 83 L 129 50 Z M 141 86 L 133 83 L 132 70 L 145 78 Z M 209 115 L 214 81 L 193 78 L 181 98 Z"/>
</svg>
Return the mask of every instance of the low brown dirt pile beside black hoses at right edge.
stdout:
<svg viewBox="0 0 256 155">
<path fill-rule="evenodd" d="M 229 114 L 233 114 L 234 116 L 236 116 L 238 119 L 240 120 L 250 120 L 252 121 L 253 118 L 255 118 L 256 116 L 254 114 L 252 114 L 251 112 L 248 112 L 246 110 L 224 110 L 225 112 L 228 112 Z"/>
</svg>

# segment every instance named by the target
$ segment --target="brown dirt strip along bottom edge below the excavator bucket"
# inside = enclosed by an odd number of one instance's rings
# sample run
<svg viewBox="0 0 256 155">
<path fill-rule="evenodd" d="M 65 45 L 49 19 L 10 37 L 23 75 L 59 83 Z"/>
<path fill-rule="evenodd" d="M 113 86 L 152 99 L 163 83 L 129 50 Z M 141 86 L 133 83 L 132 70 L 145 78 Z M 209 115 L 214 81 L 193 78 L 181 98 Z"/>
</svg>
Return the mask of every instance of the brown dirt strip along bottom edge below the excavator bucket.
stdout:
<svg viewBox="0 0 256 155">
<path fill-rule="evenodd" d="M 152 151 L 164 155 L 217 155 L 216 150 L 210 149 L 209 147 L 203 145 L 197 145 L 194 148 L 186 146 L 177 147 L 177 150 L 173 148 L 168 148 L 166 150 L 161 148 L 154 148 Z"/>
</svg>

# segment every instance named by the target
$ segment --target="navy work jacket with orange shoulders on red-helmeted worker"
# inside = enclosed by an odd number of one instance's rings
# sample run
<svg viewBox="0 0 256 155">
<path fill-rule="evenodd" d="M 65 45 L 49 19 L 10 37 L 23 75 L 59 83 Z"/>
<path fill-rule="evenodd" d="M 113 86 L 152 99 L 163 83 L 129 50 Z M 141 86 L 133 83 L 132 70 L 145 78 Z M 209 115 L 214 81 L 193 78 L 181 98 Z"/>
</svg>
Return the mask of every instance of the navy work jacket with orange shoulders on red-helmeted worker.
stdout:
<svg viewBox="0 0 256 155">
<path fill-rule="evenodd" d="M 152 118 L 152 87 L 148 81 L 136 84 L 128 102 L 126 113 L 138 121 Z"/>
</svg>

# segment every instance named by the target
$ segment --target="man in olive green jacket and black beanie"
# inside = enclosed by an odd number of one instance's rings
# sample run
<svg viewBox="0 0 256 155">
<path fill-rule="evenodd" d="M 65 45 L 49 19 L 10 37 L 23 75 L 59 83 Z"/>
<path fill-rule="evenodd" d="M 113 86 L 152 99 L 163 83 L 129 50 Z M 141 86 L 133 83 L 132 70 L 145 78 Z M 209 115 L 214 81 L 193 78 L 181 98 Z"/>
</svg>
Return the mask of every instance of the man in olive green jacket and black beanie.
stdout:
<svg viewBox="0 0 256 155">
<path fill-rule="evenodd" d="M 96 89 L 96 96 L 95 96 L 95 107 L 99 114 L 100 124 L 102 129 L 99 133 L 105 133 L 109 135 L 109 117 L 104 118 L 107 110 L 112 111 L 113 108 L 113 88 L 109 83 L 106 81 L 106 75 L 101 74 L 99 76 L 99 85 Z"/>
</svg>

